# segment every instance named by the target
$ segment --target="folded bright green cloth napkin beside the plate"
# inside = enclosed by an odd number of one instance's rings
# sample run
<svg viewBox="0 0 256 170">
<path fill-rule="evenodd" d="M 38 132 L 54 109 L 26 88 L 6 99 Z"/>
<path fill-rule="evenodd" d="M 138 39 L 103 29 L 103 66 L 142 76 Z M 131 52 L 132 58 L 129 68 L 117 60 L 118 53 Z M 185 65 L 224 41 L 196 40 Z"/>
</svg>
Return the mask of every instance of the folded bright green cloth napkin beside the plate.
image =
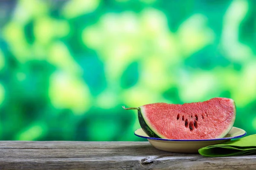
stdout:
<svg viewBox="0 0 256 170">
<path fill-rule="evenodd" d="M 256 134 L 241 139 L 223 142 L 198 150 L 202 156 L 240 156 L 256 154 Z"/>
</svg>

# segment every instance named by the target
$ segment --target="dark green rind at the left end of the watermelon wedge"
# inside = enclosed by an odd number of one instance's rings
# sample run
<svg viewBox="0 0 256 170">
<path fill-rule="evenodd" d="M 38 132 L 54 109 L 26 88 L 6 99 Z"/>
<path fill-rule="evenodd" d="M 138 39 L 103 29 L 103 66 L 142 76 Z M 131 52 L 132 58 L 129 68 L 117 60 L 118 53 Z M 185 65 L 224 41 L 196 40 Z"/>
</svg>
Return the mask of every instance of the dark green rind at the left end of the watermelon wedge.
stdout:
<svg viewBox="0 0 256 170">
<path fill-rule="evenodd" d="M 145 116 L 143 115 L 142 107 L 138 109 L 138 117 L 139 117 L 140 127 L 149 137 L 163 138 L 163 136 L 161 136 L 159 133 L 156 133 L 156 130 L 154 129 L 154 127 L 152 127 L 148 122 L 148 120 L 145 118 Z"/>
</svg>

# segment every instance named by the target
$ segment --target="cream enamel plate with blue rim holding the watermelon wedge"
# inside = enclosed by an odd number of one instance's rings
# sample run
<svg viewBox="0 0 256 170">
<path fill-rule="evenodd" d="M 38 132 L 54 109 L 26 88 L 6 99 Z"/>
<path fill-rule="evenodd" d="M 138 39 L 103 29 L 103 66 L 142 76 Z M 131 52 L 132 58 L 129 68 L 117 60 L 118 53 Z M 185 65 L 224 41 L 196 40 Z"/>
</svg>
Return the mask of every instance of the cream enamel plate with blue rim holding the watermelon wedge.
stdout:
<svg viewBox="0 0 256 170">
<path fill-rule="evenodd" d="M 135 130 L 134 134 L 138 137 L 148 139 L 148 142 L 155 148 L 173 153 L 198 153 L 198 149 L 209 145 L 220 144 L 231 139 L 240 138 L 246 135 L 246 132 L 240 128 L 232 127 L 230 132 L 224 138 L 218 139 L 161 139 L 151 138 L 142 130 Z"/>
</svg>

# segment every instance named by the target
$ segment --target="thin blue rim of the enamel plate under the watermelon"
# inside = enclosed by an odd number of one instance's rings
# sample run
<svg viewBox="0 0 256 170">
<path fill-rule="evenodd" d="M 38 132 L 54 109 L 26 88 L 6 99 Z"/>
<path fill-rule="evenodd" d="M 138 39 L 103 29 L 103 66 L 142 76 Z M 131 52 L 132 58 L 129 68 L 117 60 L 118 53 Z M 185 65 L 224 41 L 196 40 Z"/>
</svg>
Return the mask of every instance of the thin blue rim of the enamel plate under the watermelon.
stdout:
<svg viewBox="0 0 256 170">
<path fill-rule="evenodd" d="M 238 128 L 238 127 L 236 127 Z M 139 129 L 142 129 L 142 128 L 139 128 Z M 137 129 L 137 130 L 139 130 Z M 241 128 L 239 128 L 241 129 Z M 144 139 L 152 139 L 152 140 L 160 140 L 160 141 L 176 141 L 176 142 L 200 142 L 200 141 L 218 141 L 218 140 L 226 140 L 226 139 L 235 139 L 235 138 L 240 138 L 242 136 L 245 136 L 247 134 L 247 132 L 244 130 L 244 134 L 242 135 L 239 135 L 239 136 L 232 136 L 232 137 L 226 137 L 226 138 L 218 138 L 218 139 L 162 139 L 162 138 L 153 138 L 153 137 L 147 137 L 147 136 L 140 136 L 140 135 L 137 135 L 135 132 L 137 131 L 135 130 L 134 131 L 134 135 L 135 136 L 138 136 L 138 137 L 141 137 L 141 138 L 144 138 Z M 243 130 L 243 129 L 241 129 Z"/>
</svg>

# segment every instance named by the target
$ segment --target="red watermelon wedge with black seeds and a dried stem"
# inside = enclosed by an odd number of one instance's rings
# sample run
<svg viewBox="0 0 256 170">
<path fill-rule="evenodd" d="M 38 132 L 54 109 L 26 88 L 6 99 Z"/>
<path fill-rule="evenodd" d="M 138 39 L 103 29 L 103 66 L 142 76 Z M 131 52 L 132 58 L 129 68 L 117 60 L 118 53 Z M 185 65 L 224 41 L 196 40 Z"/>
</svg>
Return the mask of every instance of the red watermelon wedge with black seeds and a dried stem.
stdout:
<svg viewBox="0 0 256 170">
<path fill-rule="evenodd" d="M 236 104 L 229 98 L 179 104 L 153 103 L 137 109 L 144 132 L 163 139 L 216 139 L 231 130 L 236 119 Z"/>
</svg>

